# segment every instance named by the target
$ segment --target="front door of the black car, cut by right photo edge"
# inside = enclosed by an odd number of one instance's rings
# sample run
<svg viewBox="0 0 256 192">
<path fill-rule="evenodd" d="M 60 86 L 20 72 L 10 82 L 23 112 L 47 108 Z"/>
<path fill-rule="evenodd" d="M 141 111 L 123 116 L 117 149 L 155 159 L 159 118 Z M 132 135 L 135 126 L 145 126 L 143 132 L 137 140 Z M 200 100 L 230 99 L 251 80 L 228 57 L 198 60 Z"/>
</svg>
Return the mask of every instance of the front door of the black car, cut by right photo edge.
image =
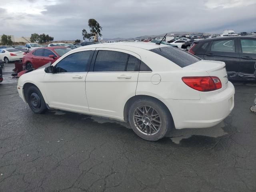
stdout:
<svg viewBox="0 0 256 192">
<path fill-rule="evenodd" d="M 240 38 L 239 44 L 239 78 L 256 80 L 256 39 Z"/>
</svg>

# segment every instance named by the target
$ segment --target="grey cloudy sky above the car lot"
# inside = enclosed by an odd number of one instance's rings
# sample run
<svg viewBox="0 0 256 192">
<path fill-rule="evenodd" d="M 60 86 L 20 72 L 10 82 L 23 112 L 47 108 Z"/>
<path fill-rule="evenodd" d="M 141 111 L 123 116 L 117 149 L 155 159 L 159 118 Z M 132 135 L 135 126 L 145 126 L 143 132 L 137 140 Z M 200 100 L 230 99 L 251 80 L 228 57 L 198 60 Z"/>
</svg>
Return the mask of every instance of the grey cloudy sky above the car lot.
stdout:
<svg viewBox="0 0 256 192">
<path fill-rule="evenodd" d="M 49 34 L 82 39 L 88 19 L 103 38 L 132 38 L 172 31 L 256 31 L 256 0 L 1 0 L 1 34 Z"/>
</svg>

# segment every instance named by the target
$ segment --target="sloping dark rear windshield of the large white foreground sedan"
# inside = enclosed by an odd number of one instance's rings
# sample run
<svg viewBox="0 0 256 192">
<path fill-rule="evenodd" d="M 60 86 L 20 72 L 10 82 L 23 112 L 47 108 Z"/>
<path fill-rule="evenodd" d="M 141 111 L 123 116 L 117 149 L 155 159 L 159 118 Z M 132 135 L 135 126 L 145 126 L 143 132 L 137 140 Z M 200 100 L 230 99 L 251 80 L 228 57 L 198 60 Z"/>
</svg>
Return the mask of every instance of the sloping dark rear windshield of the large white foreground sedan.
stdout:
<svg viewBox="0 0 256 192">
<path fill-rule="evenodd" d="M 200 58 L 175 47 L 161 47 L 150 50 L 158 55 L 165 57 L 166 59 L 174 62 L 180 67 L 186 67 L 193 63 L 200 61 Z"/>
</svg>

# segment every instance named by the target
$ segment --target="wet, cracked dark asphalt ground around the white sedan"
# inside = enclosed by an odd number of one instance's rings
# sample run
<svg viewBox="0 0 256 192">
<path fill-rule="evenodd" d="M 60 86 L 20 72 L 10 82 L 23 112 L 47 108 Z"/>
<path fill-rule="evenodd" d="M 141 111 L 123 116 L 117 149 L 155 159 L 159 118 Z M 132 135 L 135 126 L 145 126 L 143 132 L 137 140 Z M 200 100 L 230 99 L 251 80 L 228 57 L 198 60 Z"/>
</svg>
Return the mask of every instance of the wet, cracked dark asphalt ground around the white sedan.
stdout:
<svg viewBox="0 0 256 192">
<path fill-rule="evenodd" d="M 127 123 L 32 113 L 12 68 L 0 84 L 0 192 L 256 191 L 256 84 L 235 84 L 235 108 L 218 126 L 148 142 Z"/>
</svg>

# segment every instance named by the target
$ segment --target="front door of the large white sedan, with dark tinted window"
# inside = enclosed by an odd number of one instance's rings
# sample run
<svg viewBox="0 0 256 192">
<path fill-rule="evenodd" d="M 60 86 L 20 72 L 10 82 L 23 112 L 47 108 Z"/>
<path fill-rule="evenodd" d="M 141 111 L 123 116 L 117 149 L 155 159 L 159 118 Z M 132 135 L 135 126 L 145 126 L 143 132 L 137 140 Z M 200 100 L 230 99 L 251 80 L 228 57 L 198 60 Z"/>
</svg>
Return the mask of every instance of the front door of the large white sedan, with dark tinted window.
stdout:
<svg viewBox="0 0 256 192">
<path fill-rule="evenodd" d="M 52 108 L 88 112 L 85 78 L 94 49 L 77 50 L 54 65 L 54 73 L 44 76 L 46 98 Z"/>
</svg>

